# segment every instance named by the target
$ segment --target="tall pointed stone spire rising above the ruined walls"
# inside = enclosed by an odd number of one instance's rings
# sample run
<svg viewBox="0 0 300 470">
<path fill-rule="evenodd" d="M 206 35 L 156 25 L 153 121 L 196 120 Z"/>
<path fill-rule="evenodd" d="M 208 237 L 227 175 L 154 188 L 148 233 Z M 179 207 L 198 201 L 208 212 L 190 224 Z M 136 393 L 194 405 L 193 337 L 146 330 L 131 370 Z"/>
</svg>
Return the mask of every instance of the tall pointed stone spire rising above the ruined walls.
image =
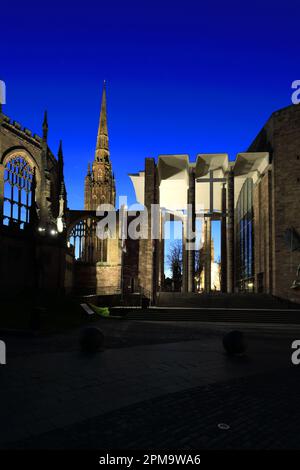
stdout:
<svg viewBox="0 0 300 470">
<path fill-rule="evenodd" d="M 115 202 L 116 187 L 109 154 L 104 82 L 95 159 L 92 168 L 88 164 L 88 172 L 85 177 L 84 208 L 85 210 L 97 210 L 100 204 L 112 204 L 114 206 Z"/>
</svg>

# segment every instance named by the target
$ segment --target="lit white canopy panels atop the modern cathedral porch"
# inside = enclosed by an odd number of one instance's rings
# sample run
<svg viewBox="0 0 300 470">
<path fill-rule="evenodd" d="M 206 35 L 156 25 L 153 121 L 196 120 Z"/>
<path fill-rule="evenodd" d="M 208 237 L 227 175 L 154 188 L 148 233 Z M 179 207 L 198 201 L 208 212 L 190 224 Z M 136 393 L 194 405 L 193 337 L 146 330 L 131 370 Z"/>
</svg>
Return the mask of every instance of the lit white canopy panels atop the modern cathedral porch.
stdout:
<svg viewBox="0 0 300 470">
<path fill-rule="evenodd" d="M 201 153 L 197 155 L 196 163 L 191 163 L 186 154 L 160 155 L 157 163 L 160 206 L 173 213 L 186 209 L 189 174 L 194 168 L 196 213 L 201 215 L 211 212 L 210 197 L 212 195 L 213 212 L 218 214 L 222 209 L 222 186 L 230 168 L 234 170 L 236 202 L 245 179 L 251 177 L 255 183 L 268 165 L 268 152 L 239 153 L 235 162 L 229 162 L 226 153 Z M 137 201 L 144 204 L 145 173 L 140 171 L 129 177 L 133 183 Z"/>
</svg>

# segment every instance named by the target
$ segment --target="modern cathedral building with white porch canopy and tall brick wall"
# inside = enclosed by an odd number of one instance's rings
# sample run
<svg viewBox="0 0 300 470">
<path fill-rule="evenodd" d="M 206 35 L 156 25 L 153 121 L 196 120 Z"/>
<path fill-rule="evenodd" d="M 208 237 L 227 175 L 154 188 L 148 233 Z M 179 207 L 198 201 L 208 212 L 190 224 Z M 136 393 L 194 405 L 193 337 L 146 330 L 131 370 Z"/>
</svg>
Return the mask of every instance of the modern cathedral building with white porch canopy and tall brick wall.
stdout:
<svg viewBox="0 0 300 470">
<path fill-rule="evenodd" d="M 205 233 L 205 290 L 211 289 L 211 224 L 221 224 L 221 289 L 227 293 L 267 293 L 300 301 L 300 106 L 272 114 L 247 152 L 235 161 L 227 154 L 160 155 L 146 158 L 131 175 L 137 200 L 164 214 L 182 211 L 183 291 L 194 286 L 193 250 L 185 250 L 187 227 L 202 218 Z M 192 211 L 185 214 L 187 204 Z M 190 220 L 189 220 L 190 219 Z M 140 285 L 159 289 L 163 243 L 141 244 Z M 146 267 L 146 269 L 145 269 Z"/>
</svg>

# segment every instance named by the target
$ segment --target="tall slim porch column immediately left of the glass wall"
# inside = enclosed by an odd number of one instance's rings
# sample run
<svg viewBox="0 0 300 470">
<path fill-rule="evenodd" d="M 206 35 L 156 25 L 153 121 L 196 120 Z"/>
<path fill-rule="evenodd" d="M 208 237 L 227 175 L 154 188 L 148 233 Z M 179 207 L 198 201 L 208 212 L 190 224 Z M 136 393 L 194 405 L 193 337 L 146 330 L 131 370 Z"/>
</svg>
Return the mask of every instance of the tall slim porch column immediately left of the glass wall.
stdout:
<svg viewBox="0 0 300 470">
<path fill-rule="evenodd" d="M 227 292 L 234 292 L 234 173 L 227 176 Z"/>
</svg>

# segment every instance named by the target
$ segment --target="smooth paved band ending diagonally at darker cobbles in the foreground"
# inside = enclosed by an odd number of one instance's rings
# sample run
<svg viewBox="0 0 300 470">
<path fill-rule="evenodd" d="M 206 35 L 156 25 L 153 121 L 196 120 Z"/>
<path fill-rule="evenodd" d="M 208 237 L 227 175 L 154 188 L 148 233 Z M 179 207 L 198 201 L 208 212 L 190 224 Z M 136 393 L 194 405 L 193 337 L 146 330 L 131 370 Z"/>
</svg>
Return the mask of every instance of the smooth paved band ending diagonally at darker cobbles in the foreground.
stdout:
<svg viewBox="0 0 300 470">
<path fill-rule="evenodd" d="M 144 327 L 145 328 L 145 327 Z M 290 343 L 262 338 L 230 359 L 219 336 L 202 340 L 13 356 L 0 369 L 0 446 L 145 400 L 291 367 Z"/>
</svg>

